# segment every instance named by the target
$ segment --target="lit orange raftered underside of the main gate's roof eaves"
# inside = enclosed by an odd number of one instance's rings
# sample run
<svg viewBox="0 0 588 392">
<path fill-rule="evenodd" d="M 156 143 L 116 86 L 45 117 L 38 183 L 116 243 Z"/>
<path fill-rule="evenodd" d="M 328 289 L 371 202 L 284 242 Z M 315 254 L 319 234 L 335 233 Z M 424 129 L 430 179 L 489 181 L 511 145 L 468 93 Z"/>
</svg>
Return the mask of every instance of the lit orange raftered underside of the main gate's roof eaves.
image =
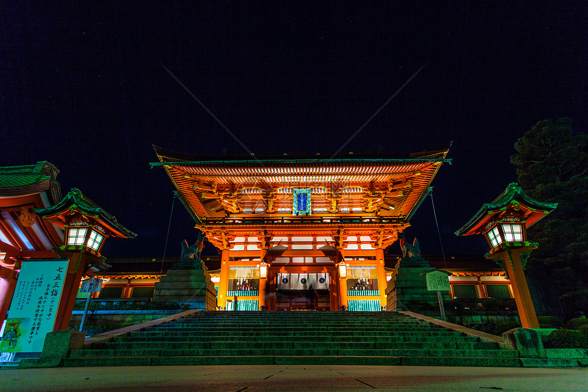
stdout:
<svg viewBox="0 0 588 392">
<path fill-rule="evenodd" d="M 217 188 L 238 185 L 243 190 L 243 200 L 256 203 L 262 191 L 273 189 L 276 199 L 288 203 L 293 188 L 312 189 L 314 203 L 329 203 L 327 190 L 333 183 L 345 185 L 341 196 L 348 200 L 363 200 L 363 193 L 370 183 L 387 185 L 395 182 L 410 182 L 403 194 L 384 197 L 392 208 L 379 208 L 374 211 L 381 216 L 408 216 L 418 200 L 423 197 L 441 162 L 415 162 L 398 165 L 366 166 L 281 166 L 281 167 L 198 167 L 170 164 L 166 171 L 179 192 L 185 197 L 193 212 L 199 217 L 222 218 L 225 212 L 218 200 L 203 199 L 202 193 L 194 189 L 195 181 L 214 184 Z M 253 188 L 254 187 L 254 188 Z M 226 189 L 225 188 L 225 189 Z M 286 206 L 287 207 L 287 206 Z M 326 211 L 325 211 L 326 213 Z"/>
</svg>

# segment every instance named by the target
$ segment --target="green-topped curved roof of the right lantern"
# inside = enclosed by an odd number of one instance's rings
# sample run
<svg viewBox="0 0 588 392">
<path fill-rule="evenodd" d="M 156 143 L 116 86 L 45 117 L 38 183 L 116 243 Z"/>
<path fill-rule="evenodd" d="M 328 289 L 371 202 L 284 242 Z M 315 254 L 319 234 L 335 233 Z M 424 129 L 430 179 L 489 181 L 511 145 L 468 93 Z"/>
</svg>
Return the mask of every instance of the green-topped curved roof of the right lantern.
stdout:
<svg viewBox="0 0 588 392">
<path fill-rule="evenodd" d="M 557 203 L 543 203 L 533 199 L 519 184 L 513 182 L 492 203 L 485 203 L 469 222 L 455 232 L 455 235 L 482 234 L 493 222 L 503 219 L 508 219 L 509 222 L 518 220 L 524 223 L 525 227 L 529 227 L 556 207 Z"/>
</svg>

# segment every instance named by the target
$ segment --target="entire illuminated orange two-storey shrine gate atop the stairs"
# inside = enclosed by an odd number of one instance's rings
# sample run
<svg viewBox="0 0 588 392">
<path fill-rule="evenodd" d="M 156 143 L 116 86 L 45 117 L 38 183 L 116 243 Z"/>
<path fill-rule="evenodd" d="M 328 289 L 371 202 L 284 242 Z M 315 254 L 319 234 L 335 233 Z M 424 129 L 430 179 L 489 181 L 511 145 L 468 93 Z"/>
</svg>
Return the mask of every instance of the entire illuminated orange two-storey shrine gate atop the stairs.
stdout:
<svg viewBox="0 0 588 392">
<path fill-rule="evenodd" d="M 450 162 L 449 146 L 333 160 L 155 150 L 151 165 L 165 168 L 196 227 L 220 250 L 218 306 L 235 310 L 386 306 L 384 249 Z"/>
</svg>

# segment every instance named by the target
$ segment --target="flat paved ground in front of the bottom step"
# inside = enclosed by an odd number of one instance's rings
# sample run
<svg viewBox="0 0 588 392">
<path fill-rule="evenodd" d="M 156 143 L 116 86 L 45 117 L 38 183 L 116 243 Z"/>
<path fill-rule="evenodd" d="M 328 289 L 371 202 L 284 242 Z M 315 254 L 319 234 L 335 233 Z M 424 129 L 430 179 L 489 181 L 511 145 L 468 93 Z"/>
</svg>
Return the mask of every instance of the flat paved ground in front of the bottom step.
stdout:
<svg viewBox="0 0 588 392">
<path fill-rule="evenodd" d="M 0 370 L 0 391 L 588 391 L 588 368 L 151 366 Z"/>
</svg>

